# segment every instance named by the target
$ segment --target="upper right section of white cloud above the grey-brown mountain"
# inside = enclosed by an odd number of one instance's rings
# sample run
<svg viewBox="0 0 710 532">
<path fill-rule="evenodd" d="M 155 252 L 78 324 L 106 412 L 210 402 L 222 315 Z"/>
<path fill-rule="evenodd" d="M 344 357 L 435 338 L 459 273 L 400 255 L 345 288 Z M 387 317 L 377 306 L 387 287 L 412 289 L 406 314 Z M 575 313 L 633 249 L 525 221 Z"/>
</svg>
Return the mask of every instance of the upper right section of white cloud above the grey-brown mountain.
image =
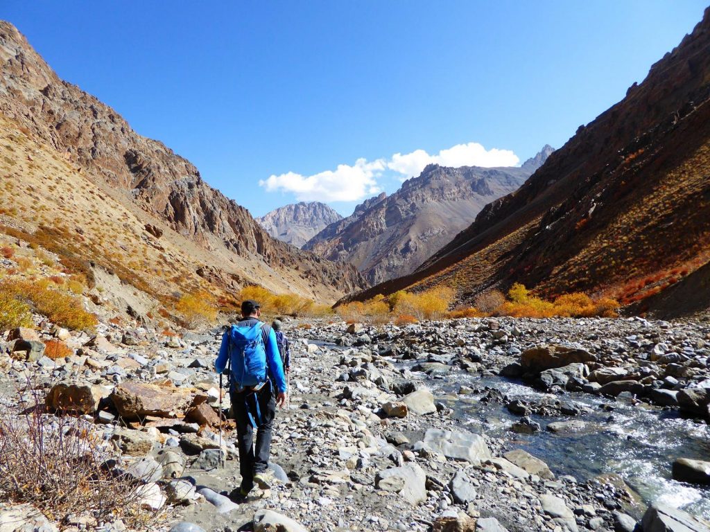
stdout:
<svg viewBox="0 0 710 532">
<path fill-rule="evenodd" d="M 390 170 L 405 174 L 408 177 L 419 175 L 426 165 L 435 163 L 442 166 L 458 168 L 461 166 L 515 166 L 520 162 L 518 156 L 511 150 L 486 150 L 479 143 L 457 144 L 447 150 L 441 150 L 438 155 L 429 155 L 424 150 L 415 150 L 402 155 L 395 153 L 387 167 Z"/>
</svg>

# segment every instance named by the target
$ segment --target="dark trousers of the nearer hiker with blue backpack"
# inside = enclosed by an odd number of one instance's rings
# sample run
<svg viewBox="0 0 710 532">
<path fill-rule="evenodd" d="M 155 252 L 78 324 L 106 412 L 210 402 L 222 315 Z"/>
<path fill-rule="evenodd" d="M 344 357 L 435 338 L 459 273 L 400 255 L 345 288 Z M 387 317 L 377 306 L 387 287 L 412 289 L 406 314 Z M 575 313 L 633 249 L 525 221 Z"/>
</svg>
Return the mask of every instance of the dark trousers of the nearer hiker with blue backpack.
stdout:
<svg viewBox="0 0 710 532">
<path fill-rule="evenodd" d="M 249 397 L 249 394 L 256 394 Z M 255 400 L 258 401 L 258 415 Z M 276 415 L 276 399 L 268 382 L 258 392 L 246 390 L 231 392 L 231 404 L 236 422 L 236 437 L 239 440 L 239 472 L 241 486 L 246 489 L 253 487 L 254 473 L 266 471 L 269 452 L 271 450 L 271 429 Z M 247 406 L 251 404 L 251 409 Z M 256 450 L 254 448 L 254 427 L 256 423 Z"/>
</svg>

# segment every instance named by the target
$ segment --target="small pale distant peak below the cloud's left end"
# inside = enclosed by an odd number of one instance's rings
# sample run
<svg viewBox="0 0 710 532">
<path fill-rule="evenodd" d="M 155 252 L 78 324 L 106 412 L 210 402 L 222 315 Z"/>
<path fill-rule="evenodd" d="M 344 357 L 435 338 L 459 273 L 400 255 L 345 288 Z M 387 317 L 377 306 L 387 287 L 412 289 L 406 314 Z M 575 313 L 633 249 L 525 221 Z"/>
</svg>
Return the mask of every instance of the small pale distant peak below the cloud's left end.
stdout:
<svg viewBox="0 0 710 532">
<path fill-rule="evenodd" d="M 279 207 L 261 218 L 256 218 L 259 225 L 266 229 L 273 238 L 302 248 L 308 240 L 322 229 L 342 220 L 336 211 L 320 201 L 301 201 Z"/>
</svg>

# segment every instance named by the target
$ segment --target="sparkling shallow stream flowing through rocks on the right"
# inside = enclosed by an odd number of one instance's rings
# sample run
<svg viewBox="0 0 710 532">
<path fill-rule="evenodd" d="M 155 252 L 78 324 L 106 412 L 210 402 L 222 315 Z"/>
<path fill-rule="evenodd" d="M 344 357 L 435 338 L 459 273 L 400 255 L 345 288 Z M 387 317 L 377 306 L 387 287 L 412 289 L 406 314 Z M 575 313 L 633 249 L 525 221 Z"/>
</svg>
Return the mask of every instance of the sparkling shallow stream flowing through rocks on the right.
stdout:
<svg viewBox="0 0 710 532">
<path fill-rule="evenodd" d="M 584 404 L 593 412 L 574 418 L 532 415 L 542 430 L 530 435 L 516 434 L 510 431 L 510 425 L 520 416 L 510 414 L 503 404 L 479 402 L 480 394 L 458 396 L 461 384 L 474 389 L 496 388 L 511 399 L 535 401 L 544 394 L 503 377 L 478 377 L 456 370 L 427 384 L 435 397 L 443 396 L 444 402 L 454 409 L 454 417 L 466 428 L 514 443 L 513 446 L 545 460 L 558 476 L 590 480 L 603 473 L 616 473 L 647 504 L 660 501 L 710 519 L 710 489 L 671 478 L 675 458 L 710 458 L 710 428 L 705 424 L 683 419 L 674 410 L 646 404 L 634 406 L 624 399 L 609 402 L 590 394 L 568 392 L 560 399 Z M 601 404 L 610 404 L 613 411 L 600 409 Z M 547 424 L 565 419 L 584 421 L 586 429 L 567 434 L 545 431 Z"/>
</svg>

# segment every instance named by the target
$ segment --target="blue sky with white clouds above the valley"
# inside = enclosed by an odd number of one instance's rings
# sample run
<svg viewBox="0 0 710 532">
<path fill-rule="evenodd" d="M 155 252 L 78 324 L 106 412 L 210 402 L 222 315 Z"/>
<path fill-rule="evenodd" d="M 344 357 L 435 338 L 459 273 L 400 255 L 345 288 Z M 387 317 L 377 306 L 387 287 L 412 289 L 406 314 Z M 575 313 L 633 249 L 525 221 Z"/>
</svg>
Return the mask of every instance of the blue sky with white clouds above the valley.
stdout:
<svg viewBox="0 0 710 532">
<path fill-rule="evenodd" d="M 297 199 L 349 214 L 426 162 L 519 164 L 559 148 L 704 7 L 3 0 L 0 18 L 60 77 L 260 216 Z"/>
</svg>

